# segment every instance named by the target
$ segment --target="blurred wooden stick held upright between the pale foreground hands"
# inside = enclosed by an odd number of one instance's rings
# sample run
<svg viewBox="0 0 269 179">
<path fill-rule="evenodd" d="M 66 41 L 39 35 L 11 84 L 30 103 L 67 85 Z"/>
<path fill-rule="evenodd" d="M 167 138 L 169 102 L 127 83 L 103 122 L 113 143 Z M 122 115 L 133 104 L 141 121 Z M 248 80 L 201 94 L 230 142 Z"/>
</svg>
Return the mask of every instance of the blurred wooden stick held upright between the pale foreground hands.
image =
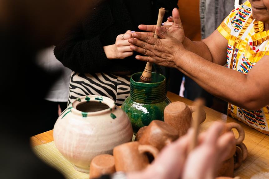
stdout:
<svg viewBox="0 0 269 179">
<path fill-rule="evenodd" d="M 201 111 L 202 111 L 202 106 L 203 106 L 202 100 L 196 100 L 195 106 L 197 107 L 197 111 L 193 112 L 192 127 L 193 127 L 194 132 L 193 132 L 189 152 L 192 151 L 197 145 L 198 128 L 199 128 L 199 123 L 200 123 L 199 121 L 201 118 Z"/>
</svg>

